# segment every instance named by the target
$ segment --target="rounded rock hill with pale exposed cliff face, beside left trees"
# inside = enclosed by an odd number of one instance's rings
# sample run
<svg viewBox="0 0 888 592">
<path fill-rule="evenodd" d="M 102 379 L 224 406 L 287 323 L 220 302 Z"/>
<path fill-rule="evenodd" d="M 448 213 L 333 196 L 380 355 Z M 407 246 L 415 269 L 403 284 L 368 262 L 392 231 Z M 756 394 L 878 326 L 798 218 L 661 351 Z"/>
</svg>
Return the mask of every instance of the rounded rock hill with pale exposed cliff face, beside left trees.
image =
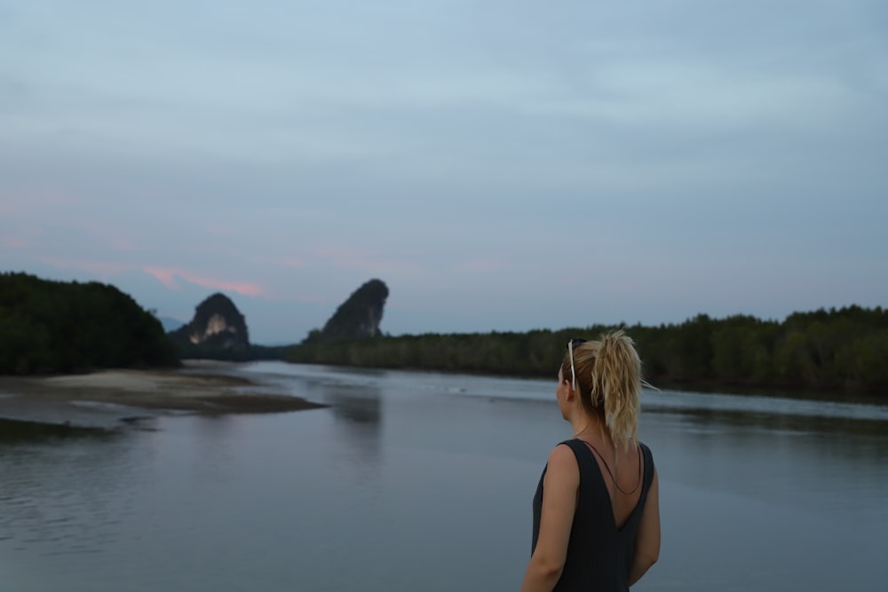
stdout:
<svg viewBox="0 0 888 592">
<path fill-rule="evenodd" d="M 194 309 L 194 319 L 172 331 L 183 357 L 228 357 L 250 349 L 247 322 L 237 306 L 221 293 L 206 298 Z"/>
</svg>

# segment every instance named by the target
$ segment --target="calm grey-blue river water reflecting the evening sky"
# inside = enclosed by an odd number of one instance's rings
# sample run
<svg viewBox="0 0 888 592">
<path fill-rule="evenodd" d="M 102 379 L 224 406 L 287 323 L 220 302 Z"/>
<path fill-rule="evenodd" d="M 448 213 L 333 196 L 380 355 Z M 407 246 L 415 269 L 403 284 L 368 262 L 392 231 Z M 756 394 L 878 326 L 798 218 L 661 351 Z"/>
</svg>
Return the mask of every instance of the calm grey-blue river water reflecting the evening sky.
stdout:
<svg viewBox="0 0 888 592">
<path fill-rule="evenodd" d="M 263 362 L 331 404 L 0 445 L 0 590 L 517 590 L 554 383 Z M 888 589 L 888 407 L 646 392 L 638 590 Z"/>
</svg>

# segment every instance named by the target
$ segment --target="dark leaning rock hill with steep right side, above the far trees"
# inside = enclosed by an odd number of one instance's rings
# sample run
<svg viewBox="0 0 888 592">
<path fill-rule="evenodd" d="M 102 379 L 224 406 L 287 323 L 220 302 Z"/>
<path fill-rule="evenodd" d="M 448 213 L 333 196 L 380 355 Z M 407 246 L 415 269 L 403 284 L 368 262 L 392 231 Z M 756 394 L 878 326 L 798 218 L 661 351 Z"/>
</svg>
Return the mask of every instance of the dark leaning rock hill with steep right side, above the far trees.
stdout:
<svg viewBox="0 0 888 592">
<path fill-rule="evenodd" d="M 385 300 L 389 290 L 382 280 L 369 280 L 340 304 L 324 328 L 314 329 L 308 343 L 347 339 L 362 339 L 382 335 L 379 323 L 383 319 Z"/>
</svg>

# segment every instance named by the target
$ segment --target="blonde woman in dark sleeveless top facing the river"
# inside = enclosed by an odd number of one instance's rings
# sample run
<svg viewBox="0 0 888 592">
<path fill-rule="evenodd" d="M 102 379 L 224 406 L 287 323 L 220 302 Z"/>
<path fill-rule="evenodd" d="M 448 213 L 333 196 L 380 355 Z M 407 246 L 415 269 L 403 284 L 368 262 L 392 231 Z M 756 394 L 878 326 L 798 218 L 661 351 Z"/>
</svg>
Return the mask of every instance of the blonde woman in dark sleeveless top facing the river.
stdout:
<svg viewBox="0 0 888 592">
<path fill-rule="evenodd" d="M 555 396 L 574 437 L 551 451 L 536 488 L 521 592 L 623 592 L 660 555 L 657 475 L 638 442 L 641 385 L 622 331 L 567 344 Z"/>
</svg>

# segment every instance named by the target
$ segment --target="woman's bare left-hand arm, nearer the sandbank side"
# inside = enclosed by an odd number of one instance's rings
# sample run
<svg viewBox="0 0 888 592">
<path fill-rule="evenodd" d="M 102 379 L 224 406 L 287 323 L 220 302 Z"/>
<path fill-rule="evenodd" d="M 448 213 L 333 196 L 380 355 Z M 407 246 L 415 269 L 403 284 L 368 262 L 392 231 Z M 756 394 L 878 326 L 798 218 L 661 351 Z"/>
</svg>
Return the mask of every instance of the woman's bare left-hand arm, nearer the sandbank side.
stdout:
<svg viewBox="0 0 888 592">
<path fill-rule="evenodd" d="M 564 569 L 574 522 L 580 468 L 568 446 L 555 446 L 543 478 L 543 510 L 536 549 L 527 564 L 521 592 L 551 592 Z"/>
</svg>

